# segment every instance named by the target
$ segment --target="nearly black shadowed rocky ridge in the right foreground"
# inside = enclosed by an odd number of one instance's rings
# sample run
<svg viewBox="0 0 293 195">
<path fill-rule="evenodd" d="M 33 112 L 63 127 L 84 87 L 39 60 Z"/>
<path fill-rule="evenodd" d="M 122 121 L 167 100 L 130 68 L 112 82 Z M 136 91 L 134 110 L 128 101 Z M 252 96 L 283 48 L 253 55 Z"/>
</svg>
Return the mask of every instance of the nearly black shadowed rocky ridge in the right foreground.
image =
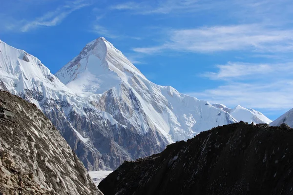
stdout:
<svg viewBox="0 0 293 195">
<path fill-rule="evenodd" d="M 124 162 L 105 195 L 292 195 L 293 129 L 240 122 Z"/>
</svg>

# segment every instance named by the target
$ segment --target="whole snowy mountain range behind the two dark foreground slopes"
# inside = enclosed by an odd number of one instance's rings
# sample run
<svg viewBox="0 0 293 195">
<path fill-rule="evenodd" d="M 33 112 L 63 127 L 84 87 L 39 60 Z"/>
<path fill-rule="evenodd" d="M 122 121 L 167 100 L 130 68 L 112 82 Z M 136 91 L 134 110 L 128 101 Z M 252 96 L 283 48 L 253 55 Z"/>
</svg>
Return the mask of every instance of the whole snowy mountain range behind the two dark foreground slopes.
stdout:
<svg viewBox="0 0 293 195">
<path fill-rule="evenodd" d="M 114 170 L 242 117 L 270 122 L 254 110 L 213 106 L 150 82 L 104 38 L 86 44 L 55 75 L 0 41 L 0 89 L 37 105 L 88 170 Z"/>
</svg>

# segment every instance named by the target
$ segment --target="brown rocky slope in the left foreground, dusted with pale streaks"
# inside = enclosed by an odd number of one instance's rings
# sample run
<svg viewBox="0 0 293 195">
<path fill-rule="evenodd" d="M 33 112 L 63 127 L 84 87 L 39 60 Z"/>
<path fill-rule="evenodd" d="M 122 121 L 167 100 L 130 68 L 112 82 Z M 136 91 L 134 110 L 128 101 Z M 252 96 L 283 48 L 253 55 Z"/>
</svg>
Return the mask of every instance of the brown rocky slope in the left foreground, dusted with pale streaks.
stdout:
<svg viewBox="0 0 293 195">
<path fill-rule="evenodd" d="M 102 195 L 50 120 L 0 91 L 0 194 Z"/>
</svg>

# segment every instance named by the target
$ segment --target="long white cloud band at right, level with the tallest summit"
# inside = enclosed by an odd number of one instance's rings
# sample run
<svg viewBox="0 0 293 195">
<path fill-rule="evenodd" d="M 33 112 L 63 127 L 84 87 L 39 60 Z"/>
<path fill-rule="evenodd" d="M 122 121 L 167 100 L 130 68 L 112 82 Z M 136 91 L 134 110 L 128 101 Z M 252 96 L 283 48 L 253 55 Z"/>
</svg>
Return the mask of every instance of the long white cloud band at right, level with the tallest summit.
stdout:
<svg viewBox="0 0 293 195">
<path fill-rule="evenodd" d="M 172 30 L 165 43 L 133 51 L 153 54 L 165 50 L 183 52 L 218 52 L 249 49 L 255 52 L 293 50 L 293 30 L 259 24 L 239 24 Z"/>
</svg>

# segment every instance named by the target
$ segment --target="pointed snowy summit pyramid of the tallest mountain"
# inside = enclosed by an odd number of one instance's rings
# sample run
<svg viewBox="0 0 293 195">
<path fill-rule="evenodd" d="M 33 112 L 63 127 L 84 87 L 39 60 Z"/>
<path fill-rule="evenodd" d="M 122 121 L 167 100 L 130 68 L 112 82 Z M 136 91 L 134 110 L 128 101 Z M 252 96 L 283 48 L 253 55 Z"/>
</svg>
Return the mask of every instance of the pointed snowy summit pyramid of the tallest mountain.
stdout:
<svg viewBox="0 0 293 195">
<path fill-rule="evenodd" d="M 145 76 L 105 38 L 87 43 L 80 54 L 56 74 L 82 96 L 102 94 L 133 75 Z"/>
</svg>

